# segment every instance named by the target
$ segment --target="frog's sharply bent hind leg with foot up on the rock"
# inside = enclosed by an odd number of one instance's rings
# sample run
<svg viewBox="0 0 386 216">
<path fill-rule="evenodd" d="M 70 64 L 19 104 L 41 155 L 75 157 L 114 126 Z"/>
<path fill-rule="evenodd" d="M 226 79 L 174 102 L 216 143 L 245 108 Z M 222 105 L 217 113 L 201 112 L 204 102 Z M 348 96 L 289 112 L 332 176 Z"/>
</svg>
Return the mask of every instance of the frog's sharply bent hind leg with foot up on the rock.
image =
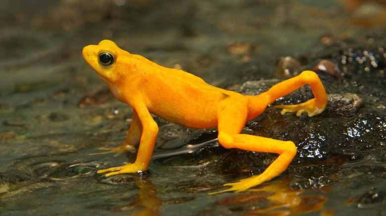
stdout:
<svg viewBox="0 0 386 216">
<path fill-rule="evenodd" d="M 327 94 L 318 75 L 312 71 L 304 71 L 298 76 L 280 82 L 263 94 L 266 94 L 271 99 L 272 103 L 276 99 L 293 92 L 305 84 L 311 86 L 315 98 L 298 105 L 279 105 L 273 106 L 270 109 L 281 108 L 283 109 L 281 111 L 282 114 L 286 112 L 296 112 L 297 116 L 302 113 L 307 113 L 307 115 L 311 117 L 322 113 L 327 105 Z"/>
</svg>

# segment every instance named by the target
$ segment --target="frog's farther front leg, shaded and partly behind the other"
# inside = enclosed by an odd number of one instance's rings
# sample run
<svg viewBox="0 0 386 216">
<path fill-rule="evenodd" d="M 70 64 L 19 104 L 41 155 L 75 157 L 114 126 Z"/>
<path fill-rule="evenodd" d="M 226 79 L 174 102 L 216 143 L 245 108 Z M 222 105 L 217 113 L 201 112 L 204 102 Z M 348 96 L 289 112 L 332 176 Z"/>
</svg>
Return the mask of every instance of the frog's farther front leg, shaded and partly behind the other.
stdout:
<svg viewBox="0 0 386 216">
<path fill-rule="evenodd" d="M 92 153 L 90 155 L 115 153 L 114 156 L 117 156 L 117 155 L 125 153 L 125 152 L 134 153 L 136 151 L 135 145 L 140 143 L 141 135 L 142 135 L 141 120 L 138 117 L 137 112 L 134 111 L 133 120 L 132 120 L 132 122 L 130 124 L 130 128 L 127 132 L 127 138 L 126 138 L 125 142 L 121 146 L 118 146 L 115 148 L 99 148 L 100 150 L 108 150 L 108 151 L 99 152 L 99 153 Z"/>
</svg>

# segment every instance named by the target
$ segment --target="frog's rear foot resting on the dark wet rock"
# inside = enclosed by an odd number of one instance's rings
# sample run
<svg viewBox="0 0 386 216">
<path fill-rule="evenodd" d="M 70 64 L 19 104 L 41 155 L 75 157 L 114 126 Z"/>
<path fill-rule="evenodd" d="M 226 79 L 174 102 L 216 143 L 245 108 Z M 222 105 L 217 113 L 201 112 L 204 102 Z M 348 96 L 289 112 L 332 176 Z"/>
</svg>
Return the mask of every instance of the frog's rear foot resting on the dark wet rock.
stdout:
<svg viewBox="0 0 386 216">
<path fill-rule="evenodd" d="M 273 106 L 269 109 L 274 109 L 274 108 L 282 109 L 282 111 L 280 112 L 281 114 L 284 114 L 286 112 L 296 112 L 297 116 L 303 113 L 307 113 L 308 117 L 312 117 L 314 115 L 318 115 L 322 113 L 325 107 L 326 105 L 317 105 L 315 103 L 315 98 L 314 98 L 298 105 L 278 105 L 278 106 Z"/>
</svg>

